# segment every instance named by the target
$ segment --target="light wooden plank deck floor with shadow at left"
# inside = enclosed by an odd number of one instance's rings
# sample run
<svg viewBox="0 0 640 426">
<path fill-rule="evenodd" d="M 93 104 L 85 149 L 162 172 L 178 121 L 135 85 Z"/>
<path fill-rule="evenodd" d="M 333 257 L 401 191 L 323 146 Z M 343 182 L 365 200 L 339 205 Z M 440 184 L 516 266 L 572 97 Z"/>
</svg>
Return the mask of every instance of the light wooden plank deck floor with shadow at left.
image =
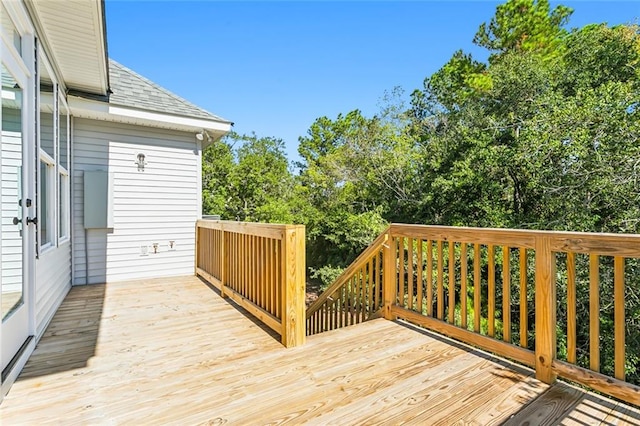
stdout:
<svg viewBox="0 0 640 426">
<path fill-rule="evenodd" d="M 286 349 L 184 277 L 73 288 L 0 420 L 640 426 L 640 410 L 384 319 Z"/>
</svg>

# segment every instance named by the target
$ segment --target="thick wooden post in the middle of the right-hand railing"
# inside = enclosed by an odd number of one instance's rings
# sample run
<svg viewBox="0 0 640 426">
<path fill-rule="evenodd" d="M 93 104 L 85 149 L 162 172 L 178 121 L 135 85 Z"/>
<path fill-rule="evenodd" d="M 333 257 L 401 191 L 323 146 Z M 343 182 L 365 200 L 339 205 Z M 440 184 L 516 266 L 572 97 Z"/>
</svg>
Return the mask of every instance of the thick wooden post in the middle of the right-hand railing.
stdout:
<svg viewBox="0 0 640 426">
<path fill-rule="evenodd" d="M 536 378 L 552 384 L 556 380 L 556 374 L 551 369 L 556 357 L 555 253 L 551 251 L 551 241 L 547 236 L 536 238 L 535 250 Z"/>
</svg>

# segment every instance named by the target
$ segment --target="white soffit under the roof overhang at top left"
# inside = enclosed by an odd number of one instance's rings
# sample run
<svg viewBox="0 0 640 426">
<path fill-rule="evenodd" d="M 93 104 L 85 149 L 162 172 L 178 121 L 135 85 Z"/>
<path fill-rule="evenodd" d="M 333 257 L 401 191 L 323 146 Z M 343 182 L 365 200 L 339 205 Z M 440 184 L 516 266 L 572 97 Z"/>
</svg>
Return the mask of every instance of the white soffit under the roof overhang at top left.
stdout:
<svg viewBox="0 0 640 426">
<path fill-rule="evenodd" d="M 107 62 L 100 0 L 31 0 L 42 43 L 48 48 L 67 89 L 106 95 Z M 42 37 L 42 34 L 41 34 Z"/>
</svg>

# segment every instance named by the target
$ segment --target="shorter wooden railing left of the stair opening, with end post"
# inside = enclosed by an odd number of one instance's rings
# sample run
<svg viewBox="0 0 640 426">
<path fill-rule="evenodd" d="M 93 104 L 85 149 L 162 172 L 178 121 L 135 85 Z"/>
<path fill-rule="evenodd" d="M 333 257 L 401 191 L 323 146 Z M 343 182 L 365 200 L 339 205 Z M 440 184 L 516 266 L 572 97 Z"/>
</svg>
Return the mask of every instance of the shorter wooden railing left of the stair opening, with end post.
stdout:
<svg viewBox="0 0 640 426">
<path fill-rule="evenodd" d="M 282 336 L 305 341 L 305 231 L 300 225 L 199 220 L 196 274 Z"/>
</svg>

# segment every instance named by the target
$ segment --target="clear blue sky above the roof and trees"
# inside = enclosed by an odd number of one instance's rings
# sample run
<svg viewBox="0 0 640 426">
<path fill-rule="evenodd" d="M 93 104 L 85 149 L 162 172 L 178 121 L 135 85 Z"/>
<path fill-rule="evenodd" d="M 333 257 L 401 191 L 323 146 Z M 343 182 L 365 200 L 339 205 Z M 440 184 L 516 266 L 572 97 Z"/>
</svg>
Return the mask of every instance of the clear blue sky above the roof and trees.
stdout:
<svg viewBox="0 0 640 426">
<path fill-rule="evenodd" d="M 385 91 L 422 87 L 471 42 L 499 2 L 106 1 L 109 55 L 235 123 L 284 140 L 321 116 L 379 110 Z M 553 5 L 558 4 L 553 2 Z M 639 1 L 566 1 L 569 27 L 638 22 Z"/>
</svg>

